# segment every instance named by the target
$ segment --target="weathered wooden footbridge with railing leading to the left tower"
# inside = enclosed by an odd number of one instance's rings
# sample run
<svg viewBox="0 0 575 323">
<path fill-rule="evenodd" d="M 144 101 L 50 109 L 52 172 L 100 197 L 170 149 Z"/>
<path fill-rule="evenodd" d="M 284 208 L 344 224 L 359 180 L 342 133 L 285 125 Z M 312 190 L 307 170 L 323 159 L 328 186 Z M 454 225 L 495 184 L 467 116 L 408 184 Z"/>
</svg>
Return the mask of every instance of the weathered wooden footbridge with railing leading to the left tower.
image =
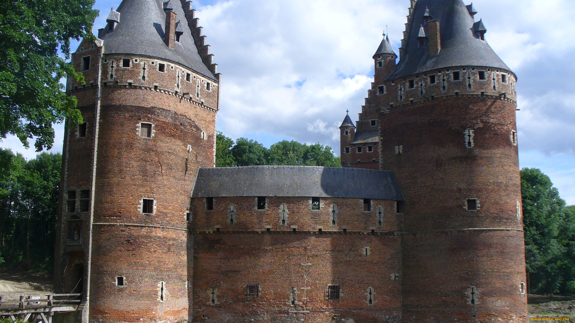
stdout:
<svg viewBox="0 0 575 323">
<path fill-rule="evenodd" d="M 0 295 L 0 317 L 9 317 L 12 322 L 52 323 L 54 313 L 78 310 L 81 302 L 82 294 Z"/>
</svg>

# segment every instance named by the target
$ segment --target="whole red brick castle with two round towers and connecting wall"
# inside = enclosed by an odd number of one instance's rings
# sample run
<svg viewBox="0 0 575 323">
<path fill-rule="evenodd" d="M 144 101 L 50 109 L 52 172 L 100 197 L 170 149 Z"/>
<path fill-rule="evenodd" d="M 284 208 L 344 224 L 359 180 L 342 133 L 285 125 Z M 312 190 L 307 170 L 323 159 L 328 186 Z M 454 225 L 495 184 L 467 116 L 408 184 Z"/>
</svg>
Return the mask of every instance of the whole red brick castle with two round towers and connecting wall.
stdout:
<svg viewBox="0 0 575 323">
<path fill-rule="evenodd" d="M 473 5 L 412 0 L 343 168 L 215 168 L 190 1 L 124 0 L 72 55 L 55 287 L 82 322 L 525 322 L 516 75 Z M 396 59 L 399 58 L 396 64 Z"/>
</svg>

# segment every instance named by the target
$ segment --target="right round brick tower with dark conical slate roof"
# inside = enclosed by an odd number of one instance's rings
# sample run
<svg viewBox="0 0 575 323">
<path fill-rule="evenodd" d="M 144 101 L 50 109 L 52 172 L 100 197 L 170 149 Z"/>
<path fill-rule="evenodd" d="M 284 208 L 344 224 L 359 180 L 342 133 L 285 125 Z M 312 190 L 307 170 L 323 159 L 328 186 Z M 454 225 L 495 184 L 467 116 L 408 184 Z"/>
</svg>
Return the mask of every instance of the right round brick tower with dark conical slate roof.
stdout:
<svg viewBox="0 0 575 323">
<path fill-rule="evenodd" d="M 377 114 L 379 167 L 405 197 L 402 321 L 524 322 L 516 75 L 473 5 L 410 3 L 400 61 L 374 56 L 355 134 Z"/>
</svg>

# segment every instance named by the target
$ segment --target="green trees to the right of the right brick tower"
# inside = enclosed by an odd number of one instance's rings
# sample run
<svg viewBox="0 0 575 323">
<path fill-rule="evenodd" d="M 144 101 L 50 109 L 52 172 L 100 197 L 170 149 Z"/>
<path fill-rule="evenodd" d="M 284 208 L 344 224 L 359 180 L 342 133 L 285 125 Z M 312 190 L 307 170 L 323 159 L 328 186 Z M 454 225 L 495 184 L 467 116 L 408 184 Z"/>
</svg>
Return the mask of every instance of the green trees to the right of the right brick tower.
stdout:
<svg viewBox="0 0 575 323">
<path fill-rule="evenodd" d="M 573 293 L 575 214 L 537 168 L 521 170 L 521 188 L 530 293 Z"/>
</svg>

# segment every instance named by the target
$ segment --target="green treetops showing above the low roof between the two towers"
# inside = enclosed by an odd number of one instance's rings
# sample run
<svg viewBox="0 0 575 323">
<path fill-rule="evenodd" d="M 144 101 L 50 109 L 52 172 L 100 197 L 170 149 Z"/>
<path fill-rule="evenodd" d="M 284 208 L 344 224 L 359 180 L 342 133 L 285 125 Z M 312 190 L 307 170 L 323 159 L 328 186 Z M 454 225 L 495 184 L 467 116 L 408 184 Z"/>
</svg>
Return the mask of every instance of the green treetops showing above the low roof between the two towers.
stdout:
<svg viewBox="0 0 575 323">
<path fill-rule="evenodd" d="M 342 167 L 331 147 L 319 143 L 283 140 L 267 149 L 255 140 L 240 138 L 234 143 L 223 133 L 216 134 L 216 167 L 255 165 Z"/>
</svg>

